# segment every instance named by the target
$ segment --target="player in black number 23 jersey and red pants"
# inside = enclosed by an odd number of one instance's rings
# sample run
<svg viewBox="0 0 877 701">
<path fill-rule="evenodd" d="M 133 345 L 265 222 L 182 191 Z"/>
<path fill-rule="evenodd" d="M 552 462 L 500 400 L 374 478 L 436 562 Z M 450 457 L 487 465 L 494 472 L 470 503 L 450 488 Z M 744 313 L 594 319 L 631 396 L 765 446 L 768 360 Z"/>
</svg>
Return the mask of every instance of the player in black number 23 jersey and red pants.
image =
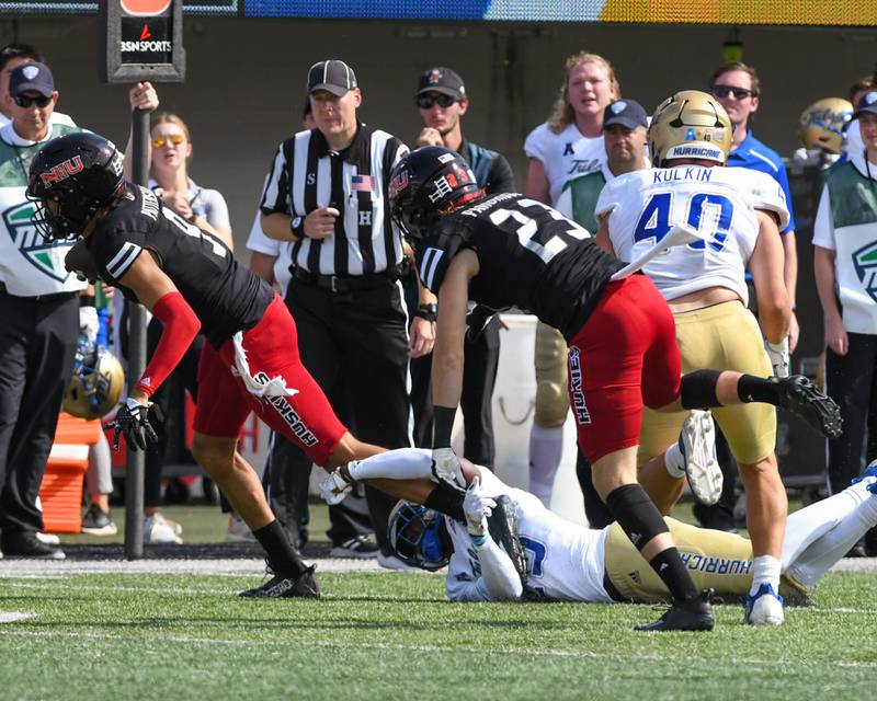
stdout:
<svg viewBox="0 0 877 701">
<path fill-rule="evenodd" d="M 683 378 L 673 317 L 646 276 L 611 280 L 623 264 L 597 249 L 585 229 L 523 195 L 487 197 L 453 151 L 425 147 L 406 156 L 394 170 L 389 195 L 421 279 L 438 296 L 432 374 L 436 475 L 465 484 L 449 446 L 468 301 L 531 311 L 567 338 L 570 403 L 594 486 L 673 595 L 672 607 L 638 630 L 711 630 L 710 591 L 697 590 L 637 483 L 643 403 L 703 409 L 761 401 L 797 410 L 828 434 L 840 432 L 838 406 L 802 377 L 698 370 Z"/>
</svg>

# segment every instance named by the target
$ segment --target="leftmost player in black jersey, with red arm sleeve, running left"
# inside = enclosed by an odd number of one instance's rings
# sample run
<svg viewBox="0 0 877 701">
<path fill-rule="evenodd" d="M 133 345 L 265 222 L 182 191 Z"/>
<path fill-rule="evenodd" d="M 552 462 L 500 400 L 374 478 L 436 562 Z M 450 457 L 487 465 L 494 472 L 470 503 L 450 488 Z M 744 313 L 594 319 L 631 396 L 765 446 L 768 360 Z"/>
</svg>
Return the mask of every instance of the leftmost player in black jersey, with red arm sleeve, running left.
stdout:
<svg viewBox="0 0 877 701">
<path fill-rule="evenodd" d="M 274 518 L 259 476 L 236 451 L 250 411 L 317 464 L 334 468 L 383 450 L 355 439 L 298 357 L 296 329 L 283 300 L 239 265 L 225 244 L 166 207 L 148 188 L 126 183 L 122 156 L 91 133 L 54 139 L 31 165 L 34 225 L 49 240 L 81 240 L 68 269 L 100 277 L 146 306 L 164 329 L 143 377 L 132 382 L 115 421 L 130 449 L 157 441 L 149 397 L 200 329 L 198 403 L 192 452 L 267 554 L 274 576 L 247 597 L 318 597 L 308 566 Z"/>
</svg>

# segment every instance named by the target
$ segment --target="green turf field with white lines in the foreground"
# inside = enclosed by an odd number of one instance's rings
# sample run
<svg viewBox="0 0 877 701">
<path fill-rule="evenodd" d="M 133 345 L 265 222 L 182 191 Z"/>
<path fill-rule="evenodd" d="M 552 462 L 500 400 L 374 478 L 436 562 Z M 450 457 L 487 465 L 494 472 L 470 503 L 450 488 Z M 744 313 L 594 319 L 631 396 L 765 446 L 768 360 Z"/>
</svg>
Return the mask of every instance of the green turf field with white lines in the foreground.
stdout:
<svg viewBox="0 0 877 701">
<path fill-rule="evenodd" d="M 5 563 L 10 564 L 10 563 Z M 258 576 L 0 578 L 0 698 L 875 698 L 873 574 L 829 573 L 778 629 L 642 634 L 647 606 L 453 605 L 444 578 L 322 574 L 323 598 L 236 598 Z"/>
</svg>

